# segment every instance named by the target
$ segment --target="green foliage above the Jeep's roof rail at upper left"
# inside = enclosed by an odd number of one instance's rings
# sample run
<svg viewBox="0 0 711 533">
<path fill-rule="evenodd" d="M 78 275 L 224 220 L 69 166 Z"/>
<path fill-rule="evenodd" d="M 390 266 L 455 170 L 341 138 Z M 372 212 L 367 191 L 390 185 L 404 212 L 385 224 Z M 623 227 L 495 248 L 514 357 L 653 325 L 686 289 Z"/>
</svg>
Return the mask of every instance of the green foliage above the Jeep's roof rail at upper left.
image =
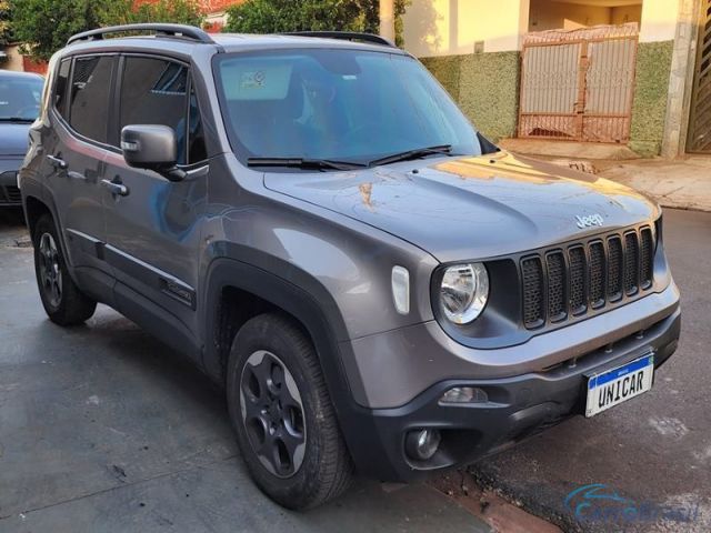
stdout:
<svg viewBox="0 0 711 533">
<path fill-rule="evenodd" d="M 74 33 L 99 27 L 202 22 L 197 0 L 159 0 L 137 9 L 133 0 L 12 0 L 12 3 L 13 37 L 23 43 L 20 51 L 40 61 L 47 61 Z"/>
</svg>

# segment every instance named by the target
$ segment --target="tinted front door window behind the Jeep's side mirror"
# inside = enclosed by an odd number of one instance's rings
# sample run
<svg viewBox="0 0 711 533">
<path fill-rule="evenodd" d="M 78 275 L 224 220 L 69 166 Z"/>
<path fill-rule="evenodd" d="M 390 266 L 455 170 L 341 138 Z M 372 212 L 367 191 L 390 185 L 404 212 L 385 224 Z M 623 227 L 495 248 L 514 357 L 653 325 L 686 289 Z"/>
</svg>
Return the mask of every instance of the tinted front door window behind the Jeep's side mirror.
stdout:
<svg viewBox="0 0 711 533">
<path fill-rule="evenodd" d="M 127 57 L 121 83 L 120 128 L 169 125 L 176 130 L 178 139 L 178 163 L 186 163 L 187 89 L 187 67 L 162 59 Z"/>
</svg>

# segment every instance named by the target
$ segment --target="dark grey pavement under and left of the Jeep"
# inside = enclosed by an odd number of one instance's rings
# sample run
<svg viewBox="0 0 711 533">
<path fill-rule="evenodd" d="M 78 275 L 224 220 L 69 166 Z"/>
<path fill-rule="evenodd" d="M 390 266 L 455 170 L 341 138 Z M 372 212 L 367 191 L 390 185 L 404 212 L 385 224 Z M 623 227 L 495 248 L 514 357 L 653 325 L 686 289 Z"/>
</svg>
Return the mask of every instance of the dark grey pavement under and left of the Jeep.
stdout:
<svg viewBox="0 0 711 533">
<path fill-rule="evenodd" d="M 490 531 L 429 485 L 359 481 L 302 514 L 271 503 L 193 366 L 106 306 L 79 328 L 47 320 L 23 234 L 0 212 L 3 533 Z"/>
</svg>

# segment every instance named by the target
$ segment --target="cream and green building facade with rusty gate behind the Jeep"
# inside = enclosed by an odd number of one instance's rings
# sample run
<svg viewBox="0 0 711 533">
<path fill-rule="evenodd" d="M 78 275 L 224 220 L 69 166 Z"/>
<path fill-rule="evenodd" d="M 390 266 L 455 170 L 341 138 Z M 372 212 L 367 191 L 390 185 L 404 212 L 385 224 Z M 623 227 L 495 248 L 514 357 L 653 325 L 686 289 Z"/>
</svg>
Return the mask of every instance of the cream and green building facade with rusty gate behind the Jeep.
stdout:
<svg viewBox="0 0 711 533">
<path fill-rule="evenodd" d="M 493 139 L 677 157 L 711 153 L 710 21 L 711 0 L 412 0 L 404 46 Z"/>
</svg>

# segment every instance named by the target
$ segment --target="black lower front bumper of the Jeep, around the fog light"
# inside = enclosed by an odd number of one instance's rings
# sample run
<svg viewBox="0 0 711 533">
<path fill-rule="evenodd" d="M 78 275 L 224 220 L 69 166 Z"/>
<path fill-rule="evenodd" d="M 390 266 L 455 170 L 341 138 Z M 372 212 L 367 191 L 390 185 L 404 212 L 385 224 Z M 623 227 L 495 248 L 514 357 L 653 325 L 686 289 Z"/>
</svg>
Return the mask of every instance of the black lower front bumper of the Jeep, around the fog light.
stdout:
<svg viewBox="0 0 711 533">
<path fill-rule="evenodd" d="M 643 330 L 540 372 L 448 380 L 399 408 L 357 408 L 344 428 L 351 454 L 361 473 L 398 482 L 415 481 L 429 471 L 475 461 L 569 416 L 583 414 L 589 374 L 624 364 L 650 350 L 654 352 L 655 366 L 660 366 L 677 349 L 680 328 L 677 304 Z M 489 401 L 440 404 L 442 393 L 452 386 L 479 388 Z M 408 431 L 424 428 L 439 429 L 442 442 L 430 461 L 418 464 L 405 455 L 404 438 Z"/>
</svg>

